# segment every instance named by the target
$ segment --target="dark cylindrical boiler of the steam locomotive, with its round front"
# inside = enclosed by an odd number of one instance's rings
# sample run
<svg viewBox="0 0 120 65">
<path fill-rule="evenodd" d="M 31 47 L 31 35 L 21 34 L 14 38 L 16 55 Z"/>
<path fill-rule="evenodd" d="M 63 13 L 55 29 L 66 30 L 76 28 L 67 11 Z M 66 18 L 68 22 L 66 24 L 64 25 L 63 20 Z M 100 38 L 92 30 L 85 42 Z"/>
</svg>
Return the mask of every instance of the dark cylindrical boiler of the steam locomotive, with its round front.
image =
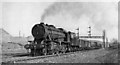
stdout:
<svg viewBox="0 0 120 65">
<path fill-rule="evenodd" d="M 32 28 L 32 35 L 36 40 L 43 40 L 43 39 L 59 39 L 65 38 L 65 34 L 63 31 L 55 28 L 53 25 L 45 25 L 44 23 L 36 24 Z"/>
</svg>

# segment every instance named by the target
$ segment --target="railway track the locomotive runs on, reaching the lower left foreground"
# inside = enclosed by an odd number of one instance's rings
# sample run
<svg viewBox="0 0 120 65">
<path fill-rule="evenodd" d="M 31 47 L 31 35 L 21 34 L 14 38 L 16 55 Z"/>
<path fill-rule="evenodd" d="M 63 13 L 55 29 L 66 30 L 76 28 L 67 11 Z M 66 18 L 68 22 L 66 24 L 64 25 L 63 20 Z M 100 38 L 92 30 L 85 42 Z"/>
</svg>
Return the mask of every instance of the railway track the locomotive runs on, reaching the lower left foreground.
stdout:
<svg viewBox="0 0 120 65">
<path fill-rule="evenodd" d="M 94 49 L 98 50 L 98 49 Z M 2 63 L 19 63 L 22 61 L 29 61 L 29 60 L 36 60 L 36 59 L 43 59 L 43 58 L 49 58 L 49 57 L 56 57 L 56 56 L 63 56 L 63 55 L 70 55 L 74 53 L 83 53 L 87 51 L 93 51 L 93 50 L 84 50 L 84 51 L 75 51 L 75 52 L 67 52 L 67 53 L 61 53 L 61 54 L 54 54 L 54 55 L 46 55 L 46 56 L 30 56 L 28 53 L 26 54 L 17 54 L 10 58 L 7 58 L 5 61 L 2 61 Z"/>
</svg>

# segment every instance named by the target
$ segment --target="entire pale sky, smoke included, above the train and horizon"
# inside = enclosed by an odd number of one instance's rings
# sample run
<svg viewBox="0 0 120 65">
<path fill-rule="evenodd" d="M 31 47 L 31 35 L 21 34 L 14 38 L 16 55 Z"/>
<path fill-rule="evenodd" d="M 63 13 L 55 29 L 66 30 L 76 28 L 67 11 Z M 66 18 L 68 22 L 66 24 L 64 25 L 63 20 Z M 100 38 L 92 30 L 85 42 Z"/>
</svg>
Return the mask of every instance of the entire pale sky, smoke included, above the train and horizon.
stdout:
<svg viewBox="0 0 120 65">
<path fill-rule="evenodd" d="M 32 27 L 42 20 L 47 24 L 75 33 L 77 32 L 75 29 L 79 27 L 80 35 L 87 35 L 88 26 L 91 26 L 93 35 L 102 35 L 105 29 L 109 39 L 118 38 L 117 2 L 6 1 L 2 2 L 2 16 L 0 16 L 2 25 L 0 24 L 0 27 L 13 36 L 18 36 L 19 31 L 21 36 L 31 35 Z"/>
</svg>

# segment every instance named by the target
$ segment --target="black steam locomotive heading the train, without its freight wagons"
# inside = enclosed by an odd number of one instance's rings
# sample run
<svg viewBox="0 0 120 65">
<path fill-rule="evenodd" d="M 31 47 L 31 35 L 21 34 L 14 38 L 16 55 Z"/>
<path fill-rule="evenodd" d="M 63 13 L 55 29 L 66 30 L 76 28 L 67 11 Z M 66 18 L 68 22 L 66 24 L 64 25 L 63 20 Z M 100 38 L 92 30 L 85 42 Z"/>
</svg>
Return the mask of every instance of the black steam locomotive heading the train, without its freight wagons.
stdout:
<svg viewBox="0 0 120 65">
<path fill-rule="evenodd" d="M 31 55 L 59 54 L 83 49 L 75 33 L 63 28 L 44 23 L 36 24 L 32 28 L 34 41 L 24 47 L 30 49 Z M 87 42 L 87 41 L 84 41 Z M 84 48 L 88 48 L 85 45 Z"/>
</svg>

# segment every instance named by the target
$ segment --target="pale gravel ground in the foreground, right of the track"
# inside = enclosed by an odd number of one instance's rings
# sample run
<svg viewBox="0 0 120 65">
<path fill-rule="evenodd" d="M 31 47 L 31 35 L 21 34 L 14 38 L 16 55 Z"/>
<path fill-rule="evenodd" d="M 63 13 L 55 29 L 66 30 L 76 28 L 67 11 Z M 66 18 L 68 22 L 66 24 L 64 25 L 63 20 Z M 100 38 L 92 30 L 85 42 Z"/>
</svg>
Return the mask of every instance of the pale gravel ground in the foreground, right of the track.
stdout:
<svg viewBox="0 0 120 65">
<path fill-rule="evenodd" d="M 96 57 L 104 56 L 107 53 L 109 53 L 109 51 L 105 49 L 79 51 L 69 55 L 21 61 L 18 63 L 101 63 Z"/>
</svg>

